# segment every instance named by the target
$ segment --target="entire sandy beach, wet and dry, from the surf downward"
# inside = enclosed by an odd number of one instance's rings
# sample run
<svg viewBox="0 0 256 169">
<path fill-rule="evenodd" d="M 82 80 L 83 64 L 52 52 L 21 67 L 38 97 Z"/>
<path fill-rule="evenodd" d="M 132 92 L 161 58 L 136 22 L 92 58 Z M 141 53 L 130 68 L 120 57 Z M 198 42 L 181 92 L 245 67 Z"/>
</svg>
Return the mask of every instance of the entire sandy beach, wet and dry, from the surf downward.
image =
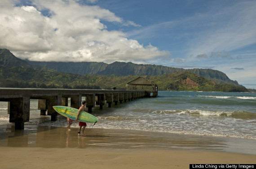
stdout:
<svg viewBox="0 0 256 169">
<path fill-rule="evenodd" d="M 256 141 L 171 133 L 26 125 L 0 126 L 3 169 L 188 169 L 189 164 L 255 164 Z"/>
</svg>

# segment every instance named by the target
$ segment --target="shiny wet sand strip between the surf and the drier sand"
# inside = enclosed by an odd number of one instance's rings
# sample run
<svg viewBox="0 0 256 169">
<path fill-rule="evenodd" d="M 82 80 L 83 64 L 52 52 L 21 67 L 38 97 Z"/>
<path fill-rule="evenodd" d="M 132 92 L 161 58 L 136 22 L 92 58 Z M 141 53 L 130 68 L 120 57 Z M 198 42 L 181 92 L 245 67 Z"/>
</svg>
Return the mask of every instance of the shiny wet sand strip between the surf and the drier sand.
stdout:
<svg viewBox="0 0 256 169">
<path fill-rule="evenodd" d="M 66 127 L 27 126 L 25 130 L 6 127 L 0 133 L 0 146 L 40 147 L 40 148 L 160 148 L 160 149 L 194 149 L 234 152 L 242 149 L 254 154 L 255 141 L 247 140 L 243 144 L 239 139 L 181 135 L 120 129 L 87 128 L 87 136 L 78 136 L 77 128 L 68 131 Z M 242 146 L 242 147 L 241 147 Z M 248 148 L 246 148 L 248 147 Z M 241 150 L 239 150 L 240 152 Z M 240 152 L 241 153 L 241 152 Z"/>
</svg>

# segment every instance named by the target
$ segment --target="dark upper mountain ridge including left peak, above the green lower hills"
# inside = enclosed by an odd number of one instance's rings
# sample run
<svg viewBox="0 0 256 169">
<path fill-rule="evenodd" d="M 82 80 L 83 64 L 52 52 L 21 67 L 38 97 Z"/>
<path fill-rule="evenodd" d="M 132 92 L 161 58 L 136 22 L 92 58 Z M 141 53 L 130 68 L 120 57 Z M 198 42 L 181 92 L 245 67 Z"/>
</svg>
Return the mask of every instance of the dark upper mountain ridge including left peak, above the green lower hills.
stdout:
<svg viewBox="0 0 256 169">
<path fill-rule="evenodd" d="M 0 49 L 0 66 L 7 68 L 22 66 L 57 72 L 65 72 L 78 75 L 115 75 L 115 76 L 161 76 L 175 72 L 192 72 L 203 76 L 215 83 L 239 85 L 237 81 L 230 80 L 225 73 L 213 69 L 183 69 L 161 65 L 135 64 L 125 62 L 102 63 L 102 62 L 37 62 L 22 60 L 15 57 L 9 50 Z"/>
</svg>

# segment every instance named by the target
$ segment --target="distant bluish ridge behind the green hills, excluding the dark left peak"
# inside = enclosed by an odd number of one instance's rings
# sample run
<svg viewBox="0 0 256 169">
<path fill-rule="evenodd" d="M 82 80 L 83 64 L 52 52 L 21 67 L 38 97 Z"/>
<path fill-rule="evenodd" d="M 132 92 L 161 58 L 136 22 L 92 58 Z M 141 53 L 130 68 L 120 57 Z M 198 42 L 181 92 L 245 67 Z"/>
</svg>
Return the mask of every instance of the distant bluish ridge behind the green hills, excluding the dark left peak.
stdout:
<svg viewBox="0 0 256 169">
<path fill-rule="evenodd" d="M 150 65 L 150 64 L 135 64 L 135 63 L 124 63 L 114 62 L 110 64 L 97 63 L 97 62 L 30 62 L 32 65 L 40 65 L 55 69 L 58 72 L 66 72 L 79 75 L 117 75 L 117 76 L 160 76 L 164 74 L 170 74 L 175 72 L 189 71 L 196 75 L 203 76 L 204 78 L 215 81 L 221 84 L 234 84 L 238 85 L 237 81 L 230 80 L 225 73 L 213 70 L 213 69 L 183 69 L 183 68 L 172 68 L 161 65 Z"/>
</svg>

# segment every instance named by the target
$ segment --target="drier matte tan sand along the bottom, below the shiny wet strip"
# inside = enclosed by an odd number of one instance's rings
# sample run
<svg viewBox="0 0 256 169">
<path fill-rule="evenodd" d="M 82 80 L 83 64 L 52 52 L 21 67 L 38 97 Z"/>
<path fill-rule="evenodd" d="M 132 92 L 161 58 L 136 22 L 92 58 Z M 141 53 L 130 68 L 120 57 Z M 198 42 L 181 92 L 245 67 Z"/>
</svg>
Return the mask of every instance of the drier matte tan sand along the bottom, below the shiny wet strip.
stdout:
<svg viewBox="0 0 256 169">
<path fill-rule="evenodd" d="M 1 148 L 2 169 L 189 169 L 190 164 L 253 164 L 255 155 L 189 150 Z"/>
</svg>

